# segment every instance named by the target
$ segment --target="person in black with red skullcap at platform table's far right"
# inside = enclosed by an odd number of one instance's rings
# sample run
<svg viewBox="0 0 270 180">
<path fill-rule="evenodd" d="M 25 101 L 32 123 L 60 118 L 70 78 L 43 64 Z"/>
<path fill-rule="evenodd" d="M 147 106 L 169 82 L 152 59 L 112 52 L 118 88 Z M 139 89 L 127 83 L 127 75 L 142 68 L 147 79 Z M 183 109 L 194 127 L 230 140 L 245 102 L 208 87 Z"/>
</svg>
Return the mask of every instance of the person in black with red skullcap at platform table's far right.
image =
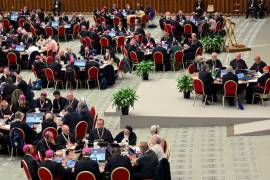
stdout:
<svg viewBox="0 0 270 180">
<path fill-rule="evenodd" d="M 248 104 L 252 103 L 252 97 L 254 93 L 263 93 L 264 86 L 266 84 L 266 81 L 270 78 L 270 68 L 269 66 L 265 66 L 263 68 L 263 75 L 258 79 L 258 83 L 256 86 L 248 86 L 247 88 L 247 94 L 246 94 L 246 100 Z M 258 100 L 255 98 L 254 103 L 258 102 Z"/>
</svg>

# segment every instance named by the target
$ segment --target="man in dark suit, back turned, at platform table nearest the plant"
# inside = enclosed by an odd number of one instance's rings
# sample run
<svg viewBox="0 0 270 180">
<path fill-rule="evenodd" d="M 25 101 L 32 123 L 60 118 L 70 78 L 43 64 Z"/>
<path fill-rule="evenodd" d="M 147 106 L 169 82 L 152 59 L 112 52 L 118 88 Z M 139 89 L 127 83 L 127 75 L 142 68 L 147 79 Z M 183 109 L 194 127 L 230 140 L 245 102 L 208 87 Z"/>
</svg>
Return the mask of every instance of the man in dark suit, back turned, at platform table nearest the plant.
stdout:
<svg viewBox="0 0 270 180">
<path fill-rule="evenodd" d="M 208 97 L 211 95 L 213 96 L 214 101 L 217 100 L 216 91 L 213 86 L 214 79 L 209 72 L 209 66 L 207 64 L 202 66 L 202 71 L 199 72 L 199 79 L 203 82 L 204 85 L 204 92 L 207 94 Z M 205 97 L 203 98 L 203 101 Z M 209 105 L 208 101 L 206 100 L 206 105 Z"/>
</svg>

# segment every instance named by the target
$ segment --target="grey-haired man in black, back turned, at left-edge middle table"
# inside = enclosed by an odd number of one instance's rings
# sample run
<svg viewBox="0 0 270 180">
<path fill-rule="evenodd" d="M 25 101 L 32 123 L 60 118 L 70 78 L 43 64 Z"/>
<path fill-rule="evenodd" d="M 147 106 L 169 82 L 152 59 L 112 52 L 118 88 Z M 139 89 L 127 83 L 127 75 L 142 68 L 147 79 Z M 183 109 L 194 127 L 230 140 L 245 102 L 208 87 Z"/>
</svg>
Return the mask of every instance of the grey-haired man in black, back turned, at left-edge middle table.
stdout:
<svg viewBox="0 0 270 180">
<path fill-rule="evenodd" d="M 10 124 L 10 129 L 12 128 L 20 128 L 23 130 L 25 134 L 25 143 L 32 144 L 35 140 L 36 133 L 33 129 L 31 129 L 24 121 L 24 114 L 21 112 L 16 112 L 14 120 Z"/>
</svg>

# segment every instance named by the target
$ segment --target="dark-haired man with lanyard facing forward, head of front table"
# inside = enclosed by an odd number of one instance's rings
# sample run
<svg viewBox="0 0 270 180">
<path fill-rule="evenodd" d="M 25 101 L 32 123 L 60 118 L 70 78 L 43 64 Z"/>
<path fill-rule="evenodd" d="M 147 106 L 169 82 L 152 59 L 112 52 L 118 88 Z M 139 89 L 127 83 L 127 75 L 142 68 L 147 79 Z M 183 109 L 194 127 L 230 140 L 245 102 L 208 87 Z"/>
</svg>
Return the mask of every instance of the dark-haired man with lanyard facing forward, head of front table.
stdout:
<svg viewBox="0 0 270 180">
<path fill-rule="evenodd" d="M 104 120 L 98 119 L 97 120 L 97 128 L 93 129 L 88 137 L 90 142 L 94 141 L 104 141 L 108 143 L 113 142 L 113 137 L 107 128 L 104 127 Z"/>
</svg>

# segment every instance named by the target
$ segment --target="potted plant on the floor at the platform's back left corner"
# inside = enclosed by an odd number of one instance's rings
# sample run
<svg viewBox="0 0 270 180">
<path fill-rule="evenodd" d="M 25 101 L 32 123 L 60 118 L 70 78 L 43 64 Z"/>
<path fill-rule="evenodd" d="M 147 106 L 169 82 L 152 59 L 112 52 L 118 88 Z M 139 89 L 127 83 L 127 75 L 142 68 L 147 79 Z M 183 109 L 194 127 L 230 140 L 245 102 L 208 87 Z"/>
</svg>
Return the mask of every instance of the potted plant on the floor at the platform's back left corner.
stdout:
<svg viewBox="0 0 270 180">
<path fill-rule="evenodd" d="M 142 61 L 136 66 L 136 74 L 142 77 L 143 80 L 148 80 L 149 72 L 154 70 L 154 63 L 152 61 Z"/>
</svg>

